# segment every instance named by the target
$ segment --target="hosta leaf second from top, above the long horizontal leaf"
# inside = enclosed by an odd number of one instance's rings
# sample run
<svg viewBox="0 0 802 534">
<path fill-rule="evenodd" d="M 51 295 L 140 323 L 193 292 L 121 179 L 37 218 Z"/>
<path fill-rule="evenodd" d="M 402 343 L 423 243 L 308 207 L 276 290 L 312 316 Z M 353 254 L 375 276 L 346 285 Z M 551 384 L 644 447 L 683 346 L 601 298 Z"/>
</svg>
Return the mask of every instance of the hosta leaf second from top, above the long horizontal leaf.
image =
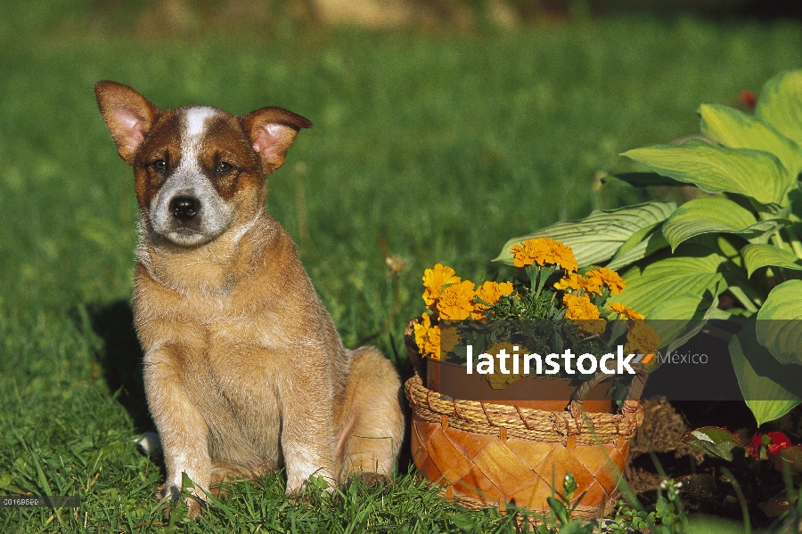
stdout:
<svg viewBox="0 0 802 534">
<path fill-rule="evenodd" d="M 802 148 L 759 118 L 715 104 L 702 104 L 699 114 L 702 134 L 710 139 L 731 149 L 771 152 L 780 158 L 790 176 L 795 177 L 802 171 Z"/>
</svg>

